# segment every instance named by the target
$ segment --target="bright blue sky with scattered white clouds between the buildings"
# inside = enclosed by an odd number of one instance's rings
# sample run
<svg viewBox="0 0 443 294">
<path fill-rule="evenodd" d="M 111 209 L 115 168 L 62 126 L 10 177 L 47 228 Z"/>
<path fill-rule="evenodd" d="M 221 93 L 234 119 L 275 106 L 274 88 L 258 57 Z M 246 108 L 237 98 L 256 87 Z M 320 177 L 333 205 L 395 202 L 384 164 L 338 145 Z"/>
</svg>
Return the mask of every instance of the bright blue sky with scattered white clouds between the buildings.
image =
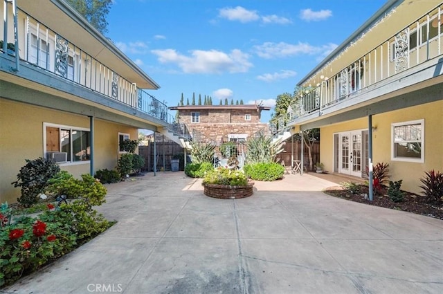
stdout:
<svg viewBox="0 0 443 294">
<path fill-rule="evenodd" d="M 107 37 L 161 86 L 273 107 L 386 0 L 114 0 Z M 262 113 L 268 122 L 271 111 Z M 172 113 L 174 114 L 174 113 Z"/>
</svg>

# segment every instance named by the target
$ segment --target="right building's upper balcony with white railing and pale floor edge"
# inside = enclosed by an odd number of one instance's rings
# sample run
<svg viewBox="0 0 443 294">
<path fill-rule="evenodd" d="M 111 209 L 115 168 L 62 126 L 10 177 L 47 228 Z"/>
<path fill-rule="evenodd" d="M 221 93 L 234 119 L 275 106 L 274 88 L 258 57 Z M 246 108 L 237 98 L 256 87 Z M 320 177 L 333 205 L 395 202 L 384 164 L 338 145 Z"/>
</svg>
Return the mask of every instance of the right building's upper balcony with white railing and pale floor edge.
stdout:
<svg viewBox="0 0 443 294">
<path fill-rule="evenodd" d="M 278 120 L 278 129 L 380 102 L 411 85 L 417 89 L 426 83 L 429 86 L 437 82 L 429 82 L 435 77 L 440 81 L 443 64 L 441 8 L 419 17 L 330 77 L 325 73 L 332 71 L 331 62 L 325 64 L 300 85 L 303 91 L 293 98 L 287 114 Z M 360 41 L 357 39 L 349 44 L 336 58 L 346 55 L 346 51 Z"/>
</svg>

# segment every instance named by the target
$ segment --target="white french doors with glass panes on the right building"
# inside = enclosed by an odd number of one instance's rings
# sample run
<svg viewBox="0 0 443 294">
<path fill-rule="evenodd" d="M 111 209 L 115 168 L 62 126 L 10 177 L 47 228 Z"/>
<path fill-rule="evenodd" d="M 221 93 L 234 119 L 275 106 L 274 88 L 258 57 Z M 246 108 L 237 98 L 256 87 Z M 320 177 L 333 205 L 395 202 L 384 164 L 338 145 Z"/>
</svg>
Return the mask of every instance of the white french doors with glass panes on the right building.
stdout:
<svg viewBox="0 0 443 294">
<path fill-rule="evenodd" d="M 361 177 L 365 164 L 367 145 L 362 138 L 365 131 L 348 131 L 338 134 L 338 172 Z M 364 140 L 363 140 L 364 139 Z"/>
</svg>

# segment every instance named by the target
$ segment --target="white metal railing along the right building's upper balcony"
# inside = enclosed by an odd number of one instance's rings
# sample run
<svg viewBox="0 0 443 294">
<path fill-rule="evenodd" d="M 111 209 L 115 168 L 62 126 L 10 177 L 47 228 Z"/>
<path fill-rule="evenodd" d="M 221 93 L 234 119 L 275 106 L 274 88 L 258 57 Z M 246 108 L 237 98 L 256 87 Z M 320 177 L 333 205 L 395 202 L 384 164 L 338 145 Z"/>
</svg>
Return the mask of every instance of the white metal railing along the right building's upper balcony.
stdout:
<svg viewBox="0 0 443 294">
<path fill-rule="evenodd" d="M 442 6 L 433 9 L 336 75 L 321 76 L 322 82 L 314 87 L 305 87 L 304 93 L 293 98 L 284 121 L 291 122 L 310 113 L 321 112 L 338 102 L 354 98 L 356 93 L 368 86 L 440 57 L 443 52 L 442 14 Z"/>
</svg>

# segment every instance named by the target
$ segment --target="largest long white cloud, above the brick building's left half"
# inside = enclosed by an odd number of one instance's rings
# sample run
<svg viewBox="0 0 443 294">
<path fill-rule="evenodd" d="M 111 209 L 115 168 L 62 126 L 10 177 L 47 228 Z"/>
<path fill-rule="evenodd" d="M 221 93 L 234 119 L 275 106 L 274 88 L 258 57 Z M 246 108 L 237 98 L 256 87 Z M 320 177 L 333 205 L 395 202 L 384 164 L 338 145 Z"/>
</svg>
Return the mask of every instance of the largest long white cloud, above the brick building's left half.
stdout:
<svg viewBox="0 0 443 294">
<path fill-rule="evenodd" d="M 183 55 L 174 49 L 152 50 L 159 62 L 176 64 L 183 73 L 244 73 L 253 66 L 249 55 L 234 49 L 230 53 L 219 50 L 192 50 Z"/>
</svg>

